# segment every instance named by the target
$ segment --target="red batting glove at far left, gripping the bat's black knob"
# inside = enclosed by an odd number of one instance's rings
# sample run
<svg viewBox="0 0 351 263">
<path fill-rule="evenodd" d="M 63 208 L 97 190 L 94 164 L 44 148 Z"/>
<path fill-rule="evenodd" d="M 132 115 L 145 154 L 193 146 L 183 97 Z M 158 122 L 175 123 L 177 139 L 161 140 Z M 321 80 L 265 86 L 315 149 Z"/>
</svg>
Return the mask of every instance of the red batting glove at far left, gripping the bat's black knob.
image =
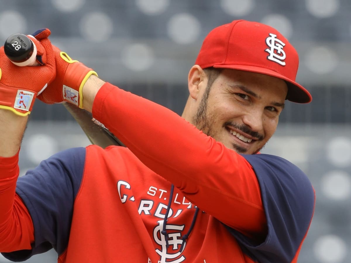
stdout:
<svg viewBox="0 0 351 263">
<path fill-rule="evenodd" d="M 37 47 L 37 62 L 46 66 L 19 67 L 5 55 L 4 47 L 0 48 L 0 108 L 11 110 L 17 115 L 31 113 L 35 98 L 56 76 L 55 56 L 48 40 L 50 31 L 28 37 Z"/>
</svg>

